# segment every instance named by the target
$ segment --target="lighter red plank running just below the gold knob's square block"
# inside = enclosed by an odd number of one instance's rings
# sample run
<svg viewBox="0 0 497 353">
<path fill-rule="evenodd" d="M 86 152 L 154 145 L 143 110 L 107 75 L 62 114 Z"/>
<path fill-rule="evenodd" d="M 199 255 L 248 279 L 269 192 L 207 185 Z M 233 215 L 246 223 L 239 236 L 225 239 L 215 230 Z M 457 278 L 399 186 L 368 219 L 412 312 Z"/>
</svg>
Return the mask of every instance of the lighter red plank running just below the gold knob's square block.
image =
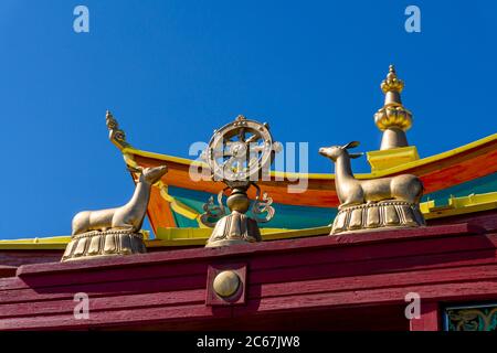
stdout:
<svg viewBox="0 0 497 353">
<path fill-rule="evenodd" d="M 422 307 L 424 300 L 431 300 L 443 293 L 444 299 L 473 299 L 473 298 L 494 298 L 497 296 L 497 280 L 494 281 L 480 281 L 480 282 L 467 282 L 454 285 L 442 285 L 442 286 L 411 286 L 404 288 L 389 288 L 382 290 L 367 290 L 367 291 L 346 291 L 339 293 L 317 293 L 317 295 L 298 295 L 284 298 L 268 298 L 257 301 L 250 301 L 247 308 L 234 308 L 234 313 L 239 315 L 248 314 L 261 314 L 264 312 L 273 311 L 302 311 L 311 308 L 324 308 L 324 307 L 357 307 L 364 303 L 400 303 L 403 302 L 406 292 L 416 291 L 421 295 Z M 452 297 L 452 298 L 451 298 Z M 372 299 L 372 300 L 371 300 Z M 126 314 L 123 310 L 120 311 L 103 311 L 103 312 L 92 312 L 91 323 L 93 327 L 98 327 L 102 324 L 116 324 L 126 322 L 130 324 L 133 322 L 139 322 L 140 320 L 146 320 L 147 323 L 159 320 L 159 318 L 150 310 L 161 311 L 160 320 L 176 320 L 178 318 L 190 318 L 194 319 L 198 317 L 200 307 L 203 306 L 186 306 L 183 308 L 146 308 L 146 309 L 134 309 Z M 147 311 L 148 310 L 148 311 Z M 256 312 L 255 312 L 256 311 Z M 140 312 L 139 314 L 135 314 Z M 181 312 L 181 313 L 180 313 Z M 145 315 L 144 315 L 145 314 Z M 229 312 L 224 312 L 225 315 Z M 211 315 L 207 314 L 205 319 Z M 126 318 L 126 319 L 125 319 Z M 85 325 L 83 322 L 75 322 L 71 315 L 45 315 L 45 317 L 31 317 L 31 318 L 15 318 L 14 320 L 0 320 L 0 328 L 2 329 L 27 329 L 27 328 L 75 328 L 77 325 Z M 84 320 L 83 320 L 84 321 Z"/>
</svg>

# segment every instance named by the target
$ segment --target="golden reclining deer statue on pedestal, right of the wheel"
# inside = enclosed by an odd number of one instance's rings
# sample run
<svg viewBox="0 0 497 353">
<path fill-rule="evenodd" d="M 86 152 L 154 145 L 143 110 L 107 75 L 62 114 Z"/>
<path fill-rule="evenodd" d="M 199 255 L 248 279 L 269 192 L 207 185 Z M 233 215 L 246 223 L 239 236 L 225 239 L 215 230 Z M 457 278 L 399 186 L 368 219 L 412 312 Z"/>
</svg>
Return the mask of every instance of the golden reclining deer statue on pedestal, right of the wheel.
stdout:
<svg viewBox="0 0 497 353">
<path fill-rule="evenodd" d="M 411 174 L 372 180 L 357 180 L 350 168 L 348 149 L 359 146 L 352 141 L 345 146 L 319 149 L 319 153 L 336 164 L 335 183 L 340 201 L 331 234 L 377 227 L 424 225 L 419 204 L 423 183 Z"/>
</svg>

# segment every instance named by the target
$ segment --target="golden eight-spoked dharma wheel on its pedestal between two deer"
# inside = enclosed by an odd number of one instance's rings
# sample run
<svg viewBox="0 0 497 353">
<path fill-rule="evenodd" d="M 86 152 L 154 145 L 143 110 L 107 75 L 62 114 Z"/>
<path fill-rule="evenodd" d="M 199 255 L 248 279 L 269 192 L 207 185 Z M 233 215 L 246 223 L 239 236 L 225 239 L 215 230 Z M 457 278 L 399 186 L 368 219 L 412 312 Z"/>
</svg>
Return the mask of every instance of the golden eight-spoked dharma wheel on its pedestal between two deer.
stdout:
<svg viewBox="0 0 497 353">
<path fill-rule="evenodd" d="M 204 205 L 201 222 L 207 226 L 215 224 L 207 247 L 262 240 L 257 222 L 268 222 L 274 215 L 274 208 L 266 193 L 261 199 L 255 182 L 268 172 L 279 150 L 281 145 L 273 141 L 267 124 L 243 116 L 214 131 L 204 159 L 211 169 L 212 179 L 223 181 L 232 190 L 226 200 L 231 213 L 220 217 L 225 212 L 222 192 L 218 195 L 219 206 L 214 205 L 212 197 Z M 246 194 L 250 186 L 257 189 L 252 208 L 255 218 L 245 215 L 251 205 Z"/>
</svg>

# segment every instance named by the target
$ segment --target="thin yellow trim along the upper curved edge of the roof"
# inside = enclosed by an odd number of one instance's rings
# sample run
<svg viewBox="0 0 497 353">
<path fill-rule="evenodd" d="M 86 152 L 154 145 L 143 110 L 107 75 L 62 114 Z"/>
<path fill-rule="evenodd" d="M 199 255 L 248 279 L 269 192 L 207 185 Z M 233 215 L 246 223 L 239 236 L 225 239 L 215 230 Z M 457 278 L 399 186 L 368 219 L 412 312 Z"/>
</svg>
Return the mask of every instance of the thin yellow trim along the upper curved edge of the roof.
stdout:
<svg viewBox="0 0 497 353">
<path fill-rule="evenodd" d="M 438 154 L 419 159 L 419 160 L 408 162 L 408 163 L 404 163 L 401 165 L 396 165 L 396 167 L 392 167 L 392 168 L 388 168 L 388 169 L 383 169 L 383 170 L 379 170 L 379 171 L 373 171 L 371 173 L 358 173 L 358 174 L 356 174 L 356 176 L 359 179 L 371 179 L 371 178 L 381 178 L 383 175 L 390 175 L 392 173 L 401 172 L 406 169 L 411 169 L 414 167 L 419 167 L 419 165 L 423 165 L 423 164 L 427 164 L 431 162 L 436 162 L 436 161 L 446 159 L 454 154 L 465 152 L 467 150 L 470 150 L 478 146 L 491 142 L 494 140 L 497 140 L 497 133 L 487 136 L 483 139 L 473 141 L 470 143 L 457 147 L 455 149 L 452 149 L 452 150 L 448 150 L 448 151 L 445 151 L 445 152 L 442 152 Z M 126 147 L 121 150 L 121 152 L 123 152 L 123 154 L 136 154 L 136 156 L 141 156 L 141 157 L 147 157 L 147 158 L 152 158 L 152 159 L 158 159 L 158 160 L 163 160 L 163 161 L 170 161 L 170 162 L 176 162 L 176 163 L 186 164 L 186 165 L 194 164 L 194 165 L 207 167 L 207 164 L 201 161 L 194 161 L 194 160 L 190 160 L 187 158 L 180 158 L 180 157 L 173 157 L 173 156 L 168 156 L 168 154 L 160 154 L 160 153 L 155 153 L 155 152 L 142 151 L 142 150 L 135 149 L 133 147 Z M 272 171 L 271 175 L 273 175 L 275 178 L 279 176 L 279 178 L 286 178 L 286 179 L 290 179 L 290 180 L 292 179 L 297 180 L 297 179 L 302 179 L 303 175 L 305 175 L 305 173 Z M 307 176 L 309 179 L 330 179 L 330 180 L 335 179 L 335 174 L 325 174 L 325 173 L 307 173 Z"/>
</svg>

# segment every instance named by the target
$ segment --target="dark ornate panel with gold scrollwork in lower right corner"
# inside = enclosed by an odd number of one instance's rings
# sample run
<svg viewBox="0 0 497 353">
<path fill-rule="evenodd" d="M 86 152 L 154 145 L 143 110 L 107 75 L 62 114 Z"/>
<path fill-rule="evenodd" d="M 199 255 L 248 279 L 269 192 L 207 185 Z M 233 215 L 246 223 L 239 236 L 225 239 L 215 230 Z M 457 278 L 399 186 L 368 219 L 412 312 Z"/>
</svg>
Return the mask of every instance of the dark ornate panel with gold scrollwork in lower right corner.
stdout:
<svg viewBox="0 0 497 353">
<path fill-rule="evenodd" d="M 447 331 L 497 331 L 497 307 L 480 306 L 447 309 Z"/>
</svg>

